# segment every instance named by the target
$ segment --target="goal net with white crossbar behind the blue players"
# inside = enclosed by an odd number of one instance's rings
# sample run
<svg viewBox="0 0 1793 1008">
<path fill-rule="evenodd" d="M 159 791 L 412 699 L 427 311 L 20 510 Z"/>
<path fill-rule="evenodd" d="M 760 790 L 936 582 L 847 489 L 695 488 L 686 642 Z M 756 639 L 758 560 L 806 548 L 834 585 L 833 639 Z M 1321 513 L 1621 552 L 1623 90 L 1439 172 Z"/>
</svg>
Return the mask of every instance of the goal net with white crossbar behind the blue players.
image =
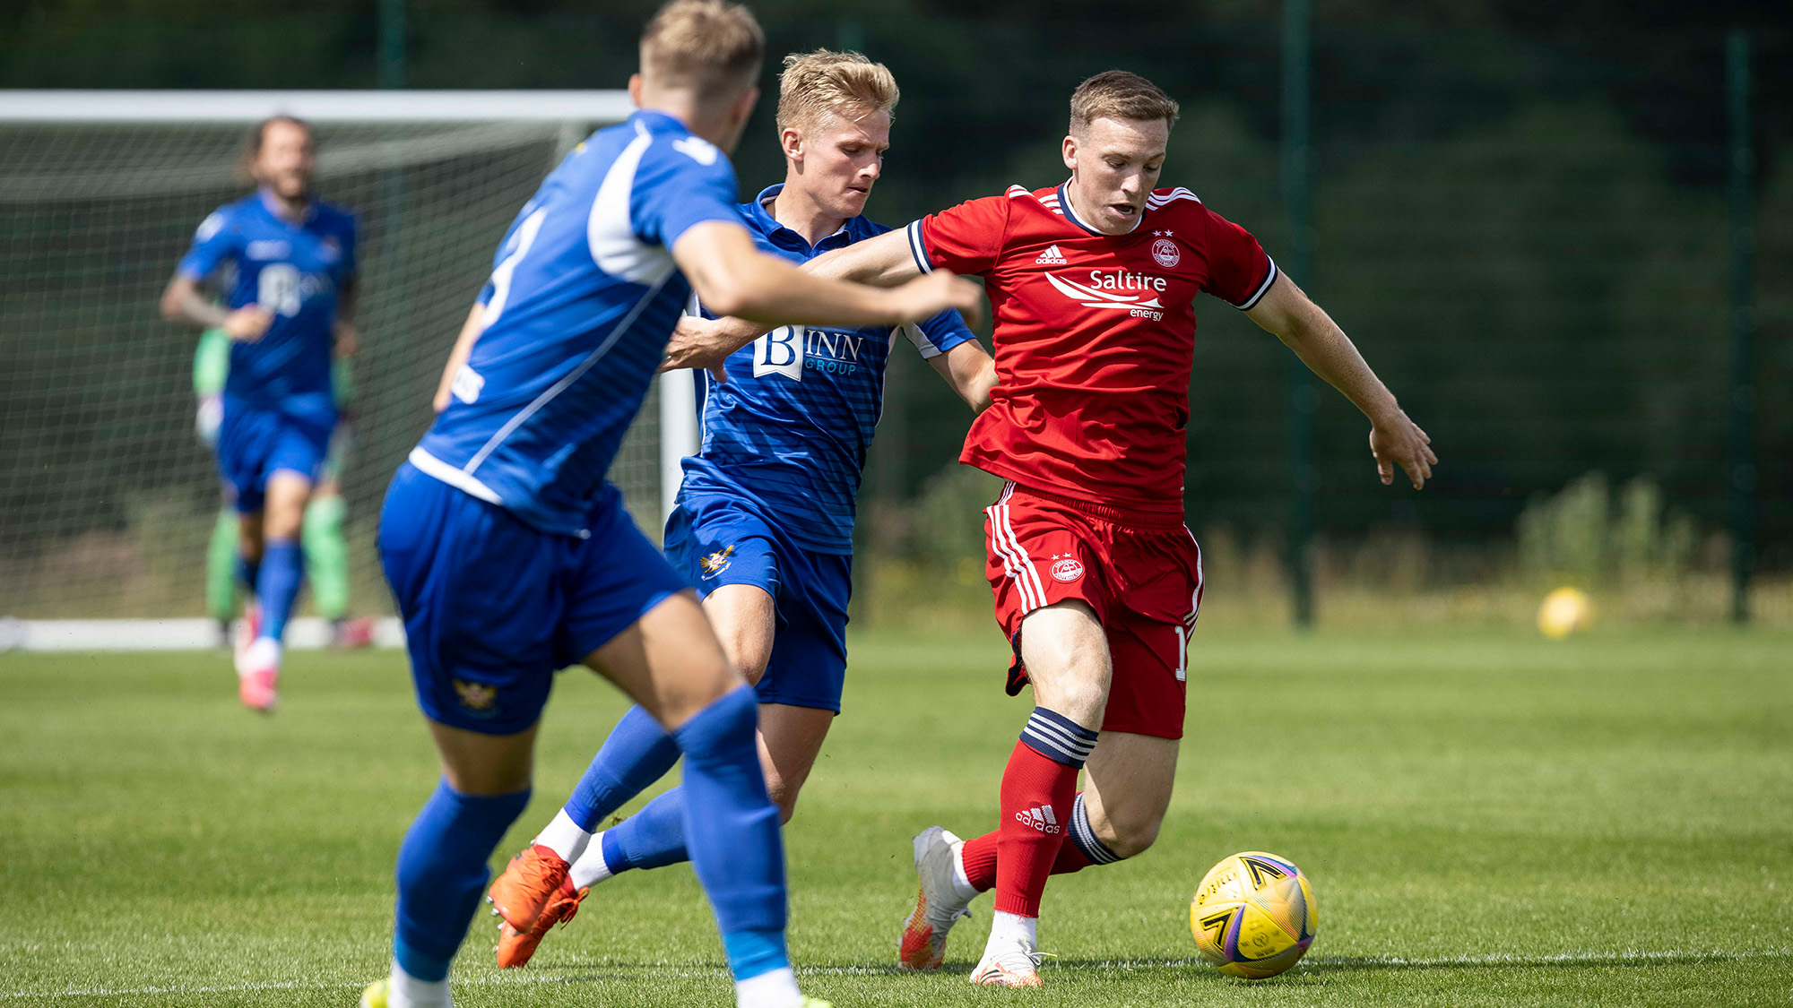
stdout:
<svg viewBox="0 0 1793 1008">
<path fill-rule="evenodd" d="M 213 208 L 240 197 L 247 126 L 317 129 L 317 194 L 360 219 L 351 362 L 353 608 L 391 608 L 375 554 L 387 479 L 516 210 L 617 91 L 0 91 L 0 617 L 204 613 L 221 511 L 195 434 L 199 334 L 158 298 Z M 685 384 L 690 378 L 685 375 Z M 651 395 L 611 479 L 658 534 L 676 463 Z M 676 474 L 676 468 L 672 468 Z M 674 475 L 676 479 L 676 475 Z"/>
</svg>

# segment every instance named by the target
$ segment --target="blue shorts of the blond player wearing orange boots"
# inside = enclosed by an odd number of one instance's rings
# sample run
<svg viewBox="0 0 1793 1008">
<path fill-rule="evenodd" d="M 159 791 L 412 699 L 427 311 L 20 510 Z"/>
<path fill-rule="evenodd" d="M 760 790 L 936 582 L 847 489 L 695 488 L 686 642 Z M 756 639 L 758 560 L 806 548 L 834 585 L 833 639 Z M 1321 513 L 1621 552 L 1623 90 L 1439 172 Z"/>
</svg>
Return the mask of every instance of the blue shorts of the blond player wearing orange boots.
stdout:
<svg viewBox="0 0 1793 1008">
<path fill-rule="evenodd" d="M 665 551 L 699 595 L 755 585 L 773 597 L 773 655 L 753 687 L 760 703 L 841 712 L 852 556 L 798 549 L 757 504 L 721 493 L 680 497 Z"/>
</svg>

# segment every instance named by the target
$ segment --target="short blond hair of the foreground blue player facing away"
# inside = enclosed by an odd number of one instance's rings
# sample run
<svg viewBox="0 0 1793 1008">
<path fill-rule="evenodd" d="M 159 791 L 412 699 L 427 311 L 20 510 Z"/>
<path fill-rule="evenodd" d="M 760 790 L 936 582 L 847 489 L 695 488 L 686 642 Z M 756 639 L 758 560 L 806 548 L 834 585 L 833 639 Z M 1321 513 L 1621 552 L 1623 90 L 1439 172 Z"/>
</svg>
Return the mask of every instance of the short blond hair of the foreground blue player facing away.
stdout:
<svg viewBox="0 0 1793 1008">
<path fill-rule="evenodd" d="M 672 0 L 642 30 L 642 75 L 689 88 L 705 106 L 732 100 L 760 75 L 766 32 L 728 0 Z"/>
</svg>

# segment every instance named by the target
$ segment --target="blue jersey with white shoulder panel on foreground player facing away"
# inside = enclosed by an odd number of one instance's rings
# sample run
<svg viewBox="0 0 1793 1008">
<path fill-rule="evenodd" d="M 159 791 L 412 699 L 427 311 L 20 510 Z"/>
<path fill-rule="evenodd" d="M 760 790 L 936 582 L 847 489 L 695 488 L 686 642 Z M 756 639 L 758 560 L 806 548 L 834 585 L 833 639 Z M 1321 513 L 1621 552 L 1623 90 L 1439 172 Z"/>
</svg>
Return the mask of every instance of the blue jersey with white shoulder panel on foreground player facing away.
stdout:
<svg viewBox="0 0 1793 1008">
<path fill-rule="evenodd" d="M 735 199 L 728 158 L 669 115 L 593 133 L 498 246 L 484 330 L 411 463 L 541 531 L 586 534 L 690 296 L 671 248 L 705 221 L 739 226 Z"/>
</svg>

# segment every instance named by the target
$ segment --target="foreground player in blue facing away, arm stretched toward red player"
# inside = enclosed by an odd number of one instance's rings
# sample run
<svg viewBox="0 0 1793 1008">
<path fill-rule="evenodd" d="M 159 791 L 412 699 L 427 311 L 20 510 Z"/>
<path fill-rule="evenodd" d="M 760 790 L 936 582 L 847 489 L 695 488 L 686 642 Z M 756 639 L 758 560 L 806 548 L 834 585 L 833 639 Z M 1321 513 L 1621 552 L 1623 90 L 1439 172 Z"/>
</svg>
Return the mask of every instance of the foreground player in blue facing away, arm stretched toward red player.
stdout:
<svg viewBox="0 0 1793 1008">
<path fill-rule="evenodd" d="M 638 111 L 592 135 L 518 212 L 450 402 L 387 490 L 380 558 L 443 780 L 398 852 L 393 967 L 362 994 L 368 1008 L 450 1003 L 486 859 L 529 800 L 540 712 L 570 664 L 610 678 L 685 757 L 690 857 L 737 1004 L 805 1004 L 753 691 L 604 475 L 692 292 L 762 325 L 843 326 L 974 308 L 981 294 L 956 278 L 834 283 L 755 249 L 726 151 L 764 45 L 724 0 L 654 14 L 629 79 Z"/>
</svg>

